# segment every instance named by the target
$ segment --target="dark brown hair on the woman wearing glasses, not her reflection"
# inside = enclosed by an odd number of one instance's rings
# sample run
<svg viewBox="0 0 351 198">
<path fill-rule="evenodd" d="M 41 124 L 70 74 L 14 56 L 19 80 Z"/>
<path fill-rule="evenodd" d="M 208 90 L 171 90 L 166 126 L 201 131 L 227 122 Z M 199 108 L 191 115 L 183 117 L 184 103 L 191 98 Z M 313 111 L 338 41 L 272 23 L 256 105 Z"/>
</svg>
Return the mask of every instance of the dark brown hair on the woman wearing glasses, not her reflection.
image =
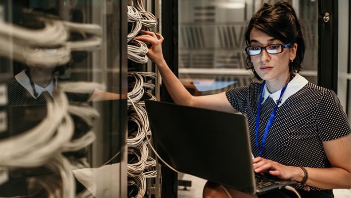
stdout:
<svg viewBox="0 0 351 198">
<path fill-rule="evenodd" d="M 302 25 L 294 8 L 287 2 L 277 2 L 272 5 L 267 3 L 256 12 L 251 18 L 244 34 L 246 45 L 250 45 L 250 32 L 253 28 L 285 43 L 296 43 L 298 45 L 296 57 L 289 62 L 290 74 L 299 73 L 302 69 L 301 63 L 304 60 L 305 41 L 302 33 Z M 256 73 L 251 62 L 250 55 L 247 56 L 247 69 L 251 69 L 258 80 L 262 80 Z"/>
</svg>

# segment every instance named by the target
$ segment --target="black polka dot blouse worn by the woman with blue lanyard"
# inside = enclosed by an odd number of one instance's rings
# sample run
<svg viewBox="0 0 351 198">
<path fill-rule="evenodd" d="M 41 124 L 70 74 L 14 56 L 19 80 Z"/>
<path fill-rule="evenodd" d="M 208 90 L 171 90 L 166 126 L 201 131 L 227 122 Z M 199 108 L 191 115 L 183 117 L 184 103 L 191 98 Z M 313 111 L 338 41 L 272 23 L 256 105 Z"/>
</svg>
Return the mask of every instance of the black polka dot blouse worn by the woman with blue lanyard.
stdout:
<svg viewBox="0 0 351 198">
<path fill-rule="evenodd" d="M 251 148 L 259 156 L 255 140 L 256 114 L 262 83 L 226 91 L 226 98 L 249 123 Z M 275 102 L 268 97 L 260 110 L 259 147 Z M 263 157 L 289 166 L 331 167 L 322 142 L 350 134 L 350 124 L 339 99 L 333 91 L 307 83 L 288 97 L 276 112 L 268 131 Z M 296 187 L 303 189 L 303 187 Z M 323 190 L 311 187 L 311 190 Z"/>
</svg>

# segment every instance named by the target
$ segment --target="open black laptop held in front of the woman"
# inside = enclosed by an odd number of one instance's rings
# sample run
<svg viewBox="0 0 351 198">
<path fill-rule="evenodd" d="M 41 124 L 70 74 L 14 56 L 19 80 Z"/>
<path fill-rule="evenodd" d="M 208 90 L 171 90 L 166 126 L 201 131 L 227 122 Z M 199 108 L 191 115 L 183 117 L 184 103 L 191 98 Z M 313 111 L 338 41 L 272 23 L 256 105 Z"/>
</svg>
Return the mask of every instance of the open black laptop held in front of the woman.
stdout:
<svg viewBox="0 0 351 198">
<path fill-rule="evenodd" d="M 155 149 L 175 170 L 252 195 L 296 184 L 255 174 L 245 115 L 152 100 L 145 105 Z"/>
</svg>

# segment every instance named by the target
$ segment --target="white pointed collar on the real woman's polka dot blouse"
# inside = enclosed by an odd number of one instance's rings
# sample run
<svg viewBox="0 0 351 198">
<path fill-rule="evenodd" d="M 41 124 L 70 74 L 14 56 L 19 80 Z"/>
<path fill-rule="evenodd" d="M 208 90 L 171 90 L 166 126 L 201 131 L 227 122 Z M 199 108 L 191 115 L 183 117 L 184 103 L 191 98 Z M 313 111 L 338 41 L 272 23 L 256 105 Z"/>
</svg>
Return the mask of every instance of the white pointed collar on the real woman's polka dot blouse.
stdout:
<svg viewBox="0 0 351 198">
<path fill-rule="evenodd" d="M 281 98 L 281 103 L 278 104 L 278 106 L 281 106 L 285 102 L 286 99 L 288 99 L 290 96 L 292 96 L 296 92 L 300 91 L 303 87 L 305 87 L 305 85 L 307 83 L 308 83 L 308 81 L 306 80 L 306 78 L 304 78 L 300 74 L 296 74 L 295 77 L 290 81 L 290 83 L 288 83 L 288 86 L 286 87 L 286 90 L 285 90 L 285 92 L 284 92 L 284 94 L 283 94 L 283 96 Z M 268 89 L 267 89 L 267 85 L 265 85 L 264 89 L 263 89 L 263 101 L 262 101 L 262 103 L 268 97 L 272 98 L 273 101 L 275 103 L 277 103 L 277 100 L 279 99 L 281 90 L 282 89 L 270 94 Z"/>
</svg>

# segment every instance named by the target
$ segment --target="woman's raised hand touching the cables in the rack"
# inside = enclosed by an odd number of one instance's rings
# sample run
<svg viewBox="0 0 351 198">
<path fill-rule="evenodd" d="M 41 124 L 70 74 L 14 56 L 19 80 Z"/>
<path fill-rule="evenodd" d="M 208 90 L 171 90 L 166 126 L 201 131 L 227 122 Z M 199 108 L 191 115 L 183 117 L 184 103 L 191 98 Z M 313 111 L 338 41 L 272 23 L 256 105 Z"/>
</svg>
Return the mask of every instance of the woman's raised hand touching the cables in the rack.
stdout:
<svg viewBox="0 0 351 198">
<path fill-rule="evenodd" d="M 146 55 L 157 65 L 159 65 L 162 61 L 165 61 L 162 53 L 162 42 L 164 38 L 161 34 L 155 32 L 149 32 L 145 30 L 141 30 L 141 33 L 144 35 L 134 37 L 134 39 L 143 41 L 151 44 L 152 46 L 149 48 L 149 51 Z"/>
</svg>

